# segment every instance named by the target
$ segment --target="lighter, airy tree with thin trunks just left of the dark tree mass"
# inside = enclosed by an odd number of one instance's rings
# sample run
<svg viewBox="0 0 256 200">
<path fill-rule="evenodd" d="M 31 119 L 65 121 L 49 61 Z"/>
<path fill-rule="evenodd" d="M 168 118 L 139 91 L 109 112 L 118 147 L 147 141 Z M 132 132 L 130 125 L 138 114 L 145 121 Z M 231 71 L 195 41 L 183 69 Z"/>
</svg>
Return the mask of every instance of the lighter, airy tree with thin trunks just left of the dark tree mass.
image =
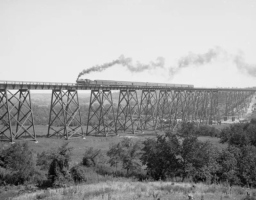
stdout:
<svg viewBox="0 0 256 200">
<path fill-rule="evenodd" d="M 141 141 L 137 138 L 124 137 L 119 143 L 110 143 L 107 156 L 110 158 L 111 166 L 122 163 L 122 168 L 128 175 L 130 171 L 140 168 L 137 159 L 140 156 Z"/>
</svg>

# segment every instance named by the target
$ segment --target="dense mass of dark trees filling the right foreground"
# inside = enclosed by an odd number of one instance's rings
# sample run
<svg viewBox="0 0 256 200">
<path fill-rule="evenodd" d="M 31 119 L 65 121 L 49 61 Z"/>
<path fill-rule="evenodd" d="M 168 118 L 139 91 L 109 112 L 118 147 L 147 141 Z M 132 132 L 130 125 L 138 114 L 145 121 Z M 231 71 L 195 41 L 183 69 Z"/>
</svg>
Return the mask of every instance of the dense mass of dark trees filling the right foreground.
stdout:
<svg viewBox="0 0 256 200">
<path fill-rule="evenodd" d="M 221 131 L 219 150 L 209 140 L 199 141 L 204 127 L 183 123 L 177 134 L 165 132 L 142 142 L 141 162 L 155 180 L 180 177 L 210 183 L 228 182 L 256 187 L 256 123 L 237 123 Z M 209 129 L 208 129 L 209 130 Z M 179 142 L 181 141 L 181 142 Z"/>
</svg>

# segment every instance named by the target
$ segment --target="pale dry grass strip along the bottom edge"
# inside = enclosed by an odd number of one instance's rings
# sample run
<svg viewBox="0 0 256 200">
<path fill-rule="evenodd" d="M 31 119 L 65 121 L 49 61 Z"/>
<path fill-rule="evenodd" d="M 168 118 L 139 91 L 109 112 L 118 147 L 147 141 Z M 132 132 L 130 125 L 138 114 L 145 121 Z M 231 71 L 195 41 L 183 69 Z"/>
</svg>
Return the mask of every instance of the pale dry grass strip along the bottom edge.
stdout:
<svg viewBox="0 0 256 200">
<path fill-rule="evenodd" d="M 241 187 L 227 187 L 220 185 L 207 185 L 202 183 L 172 183 L 172 182 L 138 182 L 129 179 L 112 179 L 105 182 L 74 185 L 68 188 L 38 190 L 34 193 L 16 196 L 13 200 L 34 199 L 90 199 L 90 200 L 185 200 L 188 194 L 193 194 L 195 199 L 211 200 L 235 200 L 246 197 L 249 191 L 252 196 L 255 190 L 247 190 Z"/>
</svg>

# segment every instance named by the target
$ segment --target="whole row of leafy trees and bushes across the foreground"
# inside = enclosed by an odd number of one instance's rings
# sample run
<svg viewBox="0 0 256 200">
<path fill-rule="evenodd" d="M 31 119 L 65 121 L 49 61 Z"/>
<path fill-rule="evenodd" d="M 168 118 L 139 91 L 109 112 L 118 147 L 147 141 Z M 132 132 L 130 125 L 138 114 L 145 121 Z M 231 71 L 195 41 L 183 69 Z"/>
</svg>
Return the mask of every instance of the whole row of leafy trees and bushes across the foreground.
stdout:
<svg viewBox="0 0 256 200">
<path fill-rule="evenodd" d="M 109 143 L 106 153 L 95 147 L 86 148 L 81 166 L 77 163 L 71 166 L 72 148 L 68 142 L 38 153 L 36 165 L 36 155 L 28 143 L 17 142 L 0 151 L 0 165 L 10 172 L 9 176 L 0 174 L 0 178 L 7 183 L 22 184 L 38 173 L 35 170 L 38 166 L 47 171 L 48 181 L 61 186 L 68 181 L 88 181 L 84 169 L 92 168 L 94 172 L 114 176 L 140 174 L 154 180 L 225 182 L 255 188 L 256 121 L 232 124 L 220 133 L 209 127 L 196 127 L 187 122 L 177 133 L 166 131 L 144 141 L 137 137 L 121 137 L 119 142 Z M 218 149 L 209 140 L 198 139 L 198 135 L 211 136 L 216 132 L 220 142 L 228 144 L 226 149 Z M 142 165 L 145 173 L 141 171 Z M 111 167 L 114 167 L 113 171 Z M 120 168 L 123 174 L 118 174 Z"/>
</svg>

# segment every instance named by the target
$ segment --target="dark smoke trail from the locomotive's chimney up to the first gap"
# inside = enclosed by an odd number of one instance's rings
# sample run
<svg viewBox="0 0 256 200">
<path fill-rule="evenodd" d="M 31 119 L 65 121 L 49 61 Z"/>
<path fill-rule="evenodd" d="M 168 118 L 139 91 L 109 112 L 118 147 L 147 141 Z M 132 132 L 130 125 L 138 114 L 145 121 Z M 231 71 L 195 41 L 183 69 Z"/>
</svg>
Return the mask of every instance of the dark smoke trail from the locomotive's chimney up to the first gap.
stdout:
<svg viewBox="0 0 256 200">
<path fill-rule="evenodd" d="M 150 61 L 149 64 L 142 64 L 139 61 L 137 61 L 136 64 L 133 65 L 132 58 L 130 58 L 130 57 L 125 58 L 124 55 L 122 54 L 121 56 L 119 56 L 118 59 L 113 60 L 110 63 L 104 63 L 102 65 L 94 65 L 88 69 L 81 71 L 78 74 L 78 78 L 84 74 L 89 74 L 93 71 L 101 72 L 101 71 L 106 70 L 109 67 L 112 67 L 116 64 L 121 64 L 122 66 L 127 67 L 127 69 L 131 72 L 142 72 L 145 70 L 164 68 L 164 63 L 165 63 L 165 59 L 163 57 L 159 56 L 156 58 L 156 62 Z"/>
</svg>

